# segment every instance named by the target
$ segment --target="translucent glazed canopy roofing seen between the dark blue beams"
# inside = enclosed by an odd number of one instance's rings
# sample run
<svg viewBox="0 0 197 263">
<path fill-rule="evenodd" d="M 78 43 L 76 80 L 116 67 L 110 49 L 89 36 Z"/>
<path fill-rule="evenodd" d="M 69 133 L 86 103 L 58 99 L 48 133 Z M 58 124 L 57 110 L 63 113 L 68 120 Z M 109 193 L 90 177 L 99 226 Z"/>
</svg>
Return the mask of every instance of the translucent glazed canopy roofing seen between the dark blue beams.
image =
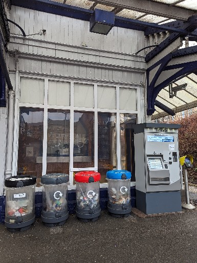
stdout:
<svg viewBox="0 0 197 263">
<path fill-rule="evenodd" d="M 187 21 L 188 17 L 197 15 L 196 0 L 53 0 L 53 2 L 89 10 L 97 8 L 112 11 L 116 16 L 160 25 L 172 21 L 184 22 Z M 189 42 L 189 46 L 194 45 L 197 45 L 197 42 Z M 185 43 L 183 43 L 182 48 L 183 47 L 185 47 Z M 196 74 L 188 74 L 188 76 L 173 82 L 172 86 L 174 87 L 185 83 L 187 83 L 186 89 L 178 91 L 177 95 L 173 98 L 169 98 L 169 87 L 165 87 L 157 96 L 157 101 L 171 108 L 174 112 L 197 107 Z M 156 111 L 152 119 L 158 119 L 168 115 L 157 106 L 155 106 L 155 108 Z"/>
</svg>

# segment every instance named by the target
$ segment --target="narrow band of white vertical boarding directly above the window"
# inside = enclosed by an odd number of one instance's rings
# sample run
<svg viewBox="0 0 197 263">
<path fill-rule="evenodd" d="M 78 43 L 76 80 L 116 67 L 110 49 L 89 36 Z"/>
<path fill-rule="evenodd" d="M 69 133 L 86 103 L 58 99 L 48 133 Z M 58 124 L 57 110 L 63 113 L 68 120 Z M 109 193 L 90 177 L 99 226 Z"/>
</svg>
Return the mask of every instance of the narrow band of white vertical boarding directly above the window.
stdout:
<svg viewBox="0 0 197 263">
<path fill-rule="evenodd" d="M 102 80 L 105 82 L 138 84 L 144 82 L 143 72 L 132 70 L 109 69 L 83 65 L 72 65 L 68 63 L 55 63 L 30 58 L 19 59 L 20 72 L 36 72 L 50 74 L 58 77 L 79 78 L 87 80 Z"/>
</svg>

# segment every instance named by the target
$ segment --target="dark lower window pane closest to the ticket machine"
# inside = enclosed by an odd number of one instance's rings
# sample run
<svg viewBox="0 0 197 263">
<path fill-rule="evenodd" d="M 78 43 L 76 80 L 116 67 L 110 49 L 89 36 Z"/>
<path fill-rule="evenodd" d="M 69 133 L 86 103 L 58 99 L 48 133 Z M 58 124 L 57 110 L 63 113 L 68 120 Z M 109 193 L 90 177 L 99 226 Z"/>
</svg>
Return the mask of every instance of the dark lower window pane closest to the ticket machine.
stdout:
<svg viewBox="0 0 197 263">
<path fill-rule="evenodd" d="M 132 172 L 135 181 L 134 135 L 132 124 L 137 123 L 137 114 L 120 114 L 121 169 Z"/>
</svg>

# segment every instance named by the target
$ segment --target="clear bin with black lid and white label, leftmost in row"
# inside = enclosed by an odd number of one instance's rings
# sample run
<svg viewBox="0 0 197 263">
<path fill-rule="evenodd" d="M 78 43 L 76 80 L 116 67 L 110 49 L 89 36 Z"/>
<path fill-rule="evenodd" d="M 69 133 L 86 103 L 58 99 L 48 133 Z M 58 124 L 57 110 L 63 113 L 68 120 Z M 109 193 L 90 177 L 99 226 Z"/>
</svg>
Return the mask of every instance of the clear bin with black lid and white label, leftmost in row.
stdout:
<svg viewBox="0 0 197 263">
<path fill-rule="evenodd" d="M 5 179 L 5 226 L 11 232 L 24 231 L 35 221 L 35 183 L 31 175 L 11 176 Z"/>
</svg>

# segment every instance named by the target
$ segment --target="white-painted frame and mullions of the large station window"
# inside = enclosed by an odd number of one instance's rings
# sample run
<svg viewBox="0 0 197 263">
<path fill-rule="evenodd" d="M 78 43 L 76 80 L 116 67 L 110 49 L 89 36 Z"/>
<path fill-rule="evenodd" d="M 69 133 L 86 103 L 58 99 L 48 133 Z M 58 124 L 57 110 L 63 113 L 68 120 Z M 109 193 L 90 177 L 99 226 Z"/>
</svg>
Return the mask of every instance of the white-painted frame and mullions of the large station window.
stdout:
<svg viewBox="0 0 197 263">
<path fill-rule="evenodd" d="M 19 102 L 20 95 L 20 80 L 21 78 L 31 78 L 31 79 L 40 79 L 45 81 L 45 90 L 44 90 L 44 104 L 28 104 Z M 58 105 L 48 105 L 48 86 L 49 81 L 58 81 L 70 83 L 70 106 L 58 106 Z M 86 84 L 94 85 L 94 108 L 84 108 L 74 106 L 74 84 Z M 98 86 L 104 87 L 115 87 L 116 89 L 116 109 L 107 109 L 107 108 L 98 108 L 98 97 L 97 90 Z M 137 110 L 120 110 L 119 108 L 119 91 L 120 88 L 136 89 L 136 104 Z M 69 162 L 69 177 L 70 177 L 70 189 L 75 188 L 73 185 L 73 172 L 76 171 L 98 171 L 98 112 L 114 112 L 116 113 L 116 153 L 117 153 L 117 170 L 121 169 L 121 146 L 120 146 L 120 114 L 136 114 L 137 123 L 141 123 L 143 120 L 143 91 L 142 87 L 139 85 L 128 85 L 128 84 L 114 84 L 106 83 L 104 81 L 79 81 L 73 80 L 72 78 L 63 79 L 62 78 L 53 78 L 53 77 L 43 77 L 43 76 L 31 76 L 28 74 L 19 74 L 18 85 L 16 85 L 16 103 L 15 103 L 15 118 L 14 118 L 14 138 L 13 138 L 13 160 L 12 160 L 12 175 L 15 175 L 17 172 L 17 157 L 18 157 L 18 128 L 19 128 L 19 119 L 18 113 L 20 107 L 33 107 L 33 108 L 43 108 L 44 110 L 44 120 L 43 120 L 43 153 L 42 153 L 42 175 L 46 174 L 47 171 L 47 129 L 48 129 L 48 109 L 67 109 L 70 110 L 70 145 L 74 143 L 74 111 L 93 111 L 94 112 L 94 167 L 84 167 L 84 168 L 74 168 L 73 167 L 73 147 L 70 147 L 70 162 Z M 101 183 L 100 187 L 107 187 L 106 183 Z"/>
</svg>

